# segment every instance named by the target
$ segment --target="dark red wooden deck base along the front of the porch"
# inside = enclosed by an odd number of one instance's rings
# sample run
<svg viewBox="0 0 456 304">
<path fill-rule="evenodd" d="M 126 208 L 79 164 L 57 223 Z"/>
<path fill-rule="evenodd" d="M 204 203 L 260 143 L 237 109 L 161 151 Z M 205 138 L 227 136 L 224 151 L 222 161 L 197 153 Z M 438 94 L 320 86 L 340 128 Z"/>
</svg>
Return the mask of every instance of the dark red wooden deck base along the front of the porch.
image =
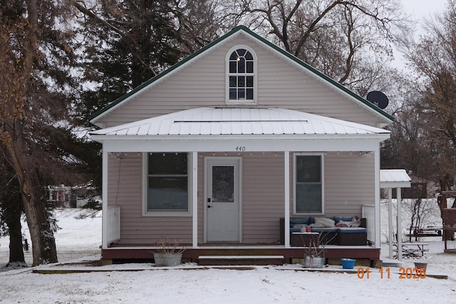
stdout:
<svg viewBox="0 0 456 304">
<path fill-rule="evenodd" d="M 285 248 L 284 245 L 253 245 L 253 244 L 201 244 L 197 248 L 185 245 L 187 250 L 182 254 L 182 259 L 192 263 L 199 263 L 200 255 L 253 255 L 253 256 L 279 256 L 284 257 L 283 263 L 293 263 L 293 259 L 303 258 L 304 247 Z M 115 245 L 101 250 L 103 260 L 107 263 L 128 263 L 130 261 L 153 260 L 153 252 L 157 250 L 152 245 Z M 378 265 L 380 261 L 380 248 L 373 248 L 368 245 L 326 245 L 325 257 L 329 260 L 339 260 L 341 258 L 355 258 L 366 260 L 371 267 Z M 274 262 L 274 263 L 273 263 Z M 260 264 L 261 263 L 261 264 Z M 249 265 L 264 265 L 264 259 L 249 260 Z M 271 260 L 271 264 L 276 264 L 276 260 Z M 220 264 L 217 264 L 220 265 Z"/>
</svg>

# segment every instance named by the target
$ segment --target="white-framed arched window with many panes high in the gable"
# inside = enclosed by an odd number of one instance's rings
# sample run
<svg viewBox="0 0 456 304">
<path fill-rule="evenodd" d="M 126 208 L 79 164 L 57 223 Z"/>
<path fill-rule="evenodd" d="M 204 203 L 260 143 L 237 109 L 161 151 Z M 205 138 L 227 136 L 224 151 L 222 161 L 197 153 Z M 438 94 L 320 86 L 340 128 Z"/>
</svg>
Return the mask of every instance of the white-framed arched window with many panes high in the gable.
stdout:
<svg viewBox="0 0 456 304">
<path fill-rule="evenodd" d="M 227 103 L 255 103 L 257 60 L 253 50 L 237 46 L 227 57 Z"/>
</svg>

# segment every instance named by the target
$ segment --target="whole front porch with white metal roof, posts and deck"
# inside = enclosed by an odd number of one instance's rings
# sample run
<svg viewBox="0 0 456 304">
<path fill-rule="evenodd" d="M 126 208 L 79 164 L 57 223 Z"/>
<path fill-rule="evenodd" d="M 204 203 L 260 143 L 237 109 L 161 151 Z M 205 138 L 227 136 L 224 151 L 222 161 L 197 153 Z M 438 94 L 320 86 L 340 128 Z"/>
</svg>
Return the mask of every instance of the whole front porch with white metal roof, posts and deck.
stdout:
<svg viewBox="0 0 456 304">
<path fill-rule="evenodd" d="M 368 218 L 373 247 L 329 246 L 327 258 L 379 259 L 379 143 L 388 131 L 278 108 L 195 108 L 92 135 L 103 143 L 105 260 L 152 259 L 152 244 L 160 235 L 177 235 L 187 243 L 184 258 L 195 263 L 200 255 L 216 253 L 283 255 L 290 263 L 301 258 L 303 248 L 291 247 L 289 219 L 306 214 Z M 176 210 L 148 201 L 161 190 L 148 186 L 150 178 L 160 177 L 148 164 L 167 163 L 160 158 L 170 155 L 187 162 L 180 167 L 186 168 L 179 175 L 186 176 L 185 195 Z M 297 181 L 304 165 L 309 180 Z M 214 181 L 220 167 L 232 176 L 229 202 L 212 191 L 223 184 Z M 305 205 L 304 197 L 314 204 Z M 228 207 L 232 210 L 222 209 Z M 279 218 L 286 223 L 283 245 L 278 245 Z M 222 222 L 231 230 L 216 234 Z M 213 241 L 237 245 L 209 245 Z"/>
</svg>

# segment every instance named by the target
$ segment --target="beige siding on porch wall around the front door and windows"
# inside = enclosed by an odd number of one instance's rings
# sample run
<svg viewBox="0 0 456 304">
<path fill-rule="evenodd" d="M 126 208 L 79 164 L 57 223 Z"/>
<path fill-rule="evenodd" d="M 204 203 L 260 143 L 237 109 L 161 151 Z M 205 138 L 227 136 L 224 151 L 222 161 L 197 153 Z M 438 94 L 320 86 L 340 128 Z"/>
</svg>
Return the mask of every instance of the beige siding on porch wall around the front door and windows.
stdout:
<svg viewBox="0 0 456 304">
<path fill-rule="evenodd" d="M 198 157 L 198 242 L 204 233 L 204 156 Z M 238 156 L 228 153 L 227 156 Z M 242 153 L 243 243 L 275 243 L 284 217 L 284 153 Z M 293 158 L 291 157 L 291 168 Z M 325 216 L 361 216 L 361 205 L 373 203 L 373 156 L 328 153 L 325 161 Z M 120 181 L 118 180 L 120 165 Z M 120 244 L 154 244 L 161 235 L 192 243 L 192 217 L 142 216 L 142 157 L 124 153 L 109 158 L 108 204 L 120 206 Z M 294 183 L 293 170 L 290 181 Z M 119 191 L 115 186 L 119 185 Z M 291 185 L 291 199 L 293 198 Z M 291 202 L 292 206 L 292 202 Z M 290 211 L 293 215 L 293 208 Z"/>
</svg>

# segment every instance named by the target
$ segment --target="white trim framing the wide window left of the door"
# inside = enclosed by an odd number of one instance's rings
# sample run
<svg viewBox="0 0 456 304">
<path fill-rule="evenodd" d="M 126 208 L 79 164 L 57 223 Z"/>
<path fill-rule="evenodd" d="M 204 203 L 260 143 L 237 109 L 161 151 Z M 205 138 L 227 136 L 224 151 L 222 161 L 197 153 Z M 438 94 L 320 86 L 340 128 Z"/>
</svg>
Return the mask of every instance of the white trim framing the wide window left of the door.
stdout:
<svg viewBox="0 0 456 304">
<path fill-rule="evenodd" d="M 165 152 L 167 153 L 167 152 Z M 192 203 L 192 157 L 187 153 L 187 187 L 188 187 L 188 211 L 147 211 L 147 176 L 148 163 L 147 163 L 148 152 L 142 153 L 142 216 L 192 216 L 193 215 L 193 203 Z"/>
</svg>

